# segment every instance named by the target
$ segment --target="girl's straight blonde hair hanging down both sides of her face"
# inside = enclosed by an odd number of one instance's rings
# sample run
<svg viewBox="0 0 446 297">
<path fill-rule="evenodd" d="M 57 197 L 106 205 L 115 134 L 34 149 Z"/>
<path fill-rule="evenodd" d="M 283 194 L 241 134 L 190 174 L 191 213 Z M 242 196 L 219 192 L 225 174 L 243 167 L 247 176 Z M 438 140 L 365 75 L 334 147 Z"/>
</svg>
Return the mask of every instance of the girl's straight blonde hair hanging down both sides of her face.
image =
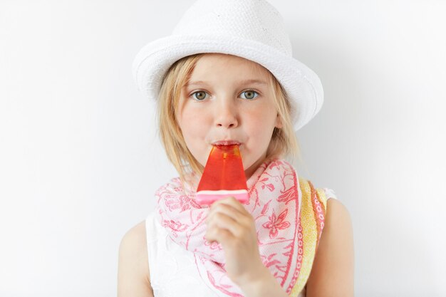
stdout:
<svg viewBox="0 0 446 297">
<path fill-rule="evenodd" d="M 187 148 L 175 113 L 180 101 L 181 90 L 187 84 L 197 61 L 203 55 L 204 53 L 199 53 L 176 61 L 165 75 L 158 98 L 157 116 L 162 145 L 167 158 L 175 166 L 182 180 L 187 173 L 202 174 L 203 172 L 203 166 Z M 273 88 L 274 104 L 282 127 L 274 128 L 269 147 L 266 150 L 266 158 L 291 157 L 291 160 L 294 160 L 299 155 L 299 145 L 291 120 L 291 103 L 279 81 L 269 71 L 268 73 L 269 85 Z"/>
</svg>

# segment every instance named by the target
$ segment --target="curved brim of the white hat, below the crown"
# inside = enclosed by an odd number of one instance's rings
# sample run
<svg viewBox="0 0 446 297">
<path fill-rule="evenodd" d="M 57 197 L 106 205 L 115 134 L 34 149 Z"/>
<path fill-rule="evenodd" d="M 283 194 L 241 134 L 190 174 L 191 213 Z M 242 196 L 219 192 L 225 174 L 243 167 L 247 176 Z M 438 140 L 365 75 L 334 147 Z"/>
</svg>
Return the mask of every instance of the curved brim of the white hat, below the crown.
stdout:
<svg viewBox="0 0 446 297">
<path fill-rule="evenodd" d="M 318 75 L 304 63 L 264 43 L 232 36 L 167 36 L 144 46 L 133 62 L 139 90 L 157 100 L 165 73 L 175 61 L 197 53 L 226 53 L 268 69 L 286 91 L 299 130 L 321 109 L 323 88 Z"/>
</svg>

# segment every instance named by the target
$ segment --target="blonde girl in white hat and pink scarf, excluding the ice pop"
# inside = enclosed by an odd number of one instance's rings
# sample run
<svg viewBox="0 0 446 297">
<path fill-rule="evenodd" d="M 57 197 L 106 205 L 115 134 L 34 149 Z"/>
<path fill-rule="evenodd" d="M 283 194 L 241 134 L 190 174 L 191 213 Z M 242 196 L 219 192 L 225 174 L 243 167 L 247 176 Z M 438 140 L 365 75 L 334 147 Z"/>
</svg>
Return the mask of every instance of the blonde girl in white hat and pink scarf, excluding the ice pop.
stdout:
<svg viewBox="0 0 446 297">
<path fill-rule="evenodd" d="M 318 113 L 323 91 L 292 58 L 279 13 L 263 0 L 199 0 L 172 36 L 142 48 L 134 71 L 157 100 L 180 177 L 123 237 L 118 296 L 353 296 L 346 208 L 284 160 L 296 155 L 294 131 Z M 233 144 L 249 202 L 197 204 L 212 145 Z"/>
</svg>

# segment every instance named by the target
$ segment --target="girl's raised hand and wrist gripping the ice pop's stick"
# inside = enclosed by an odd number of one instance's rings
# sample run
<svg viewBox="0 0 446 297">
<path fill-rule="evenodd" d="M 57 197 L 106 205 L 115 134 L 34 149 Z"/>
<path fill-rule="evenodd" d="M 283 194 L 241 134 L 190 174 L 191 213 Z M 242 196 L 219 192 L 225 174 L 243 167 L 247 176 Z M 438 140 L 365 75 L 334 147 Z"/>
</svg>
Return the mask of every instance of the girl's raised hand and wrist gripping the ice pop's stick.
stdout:
<svg viewBox="0 0 446 297">
<path fill-rule="evenodd" d="M 204 238 L 222 244 L 225 269 L 234 283 L 243 286 L 267 277 L 269 270 L 261 262 L 254 219 L 237 199 L 214 202 L 206 223 Z"/>
</svg>

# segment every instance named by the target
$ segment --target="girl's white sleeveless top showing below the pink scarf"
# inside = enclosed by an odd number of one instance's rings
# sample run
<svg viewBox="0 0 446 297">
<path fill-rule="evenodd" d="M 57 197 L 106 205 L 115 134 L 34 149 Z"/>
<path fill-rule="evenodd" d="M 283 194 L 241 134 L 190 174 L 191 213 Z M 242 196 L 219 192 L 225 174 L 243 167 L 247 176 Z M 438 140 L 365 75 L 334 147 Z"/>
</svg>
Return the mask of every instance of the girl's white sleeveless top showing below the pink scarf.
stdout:
<svg viewBox="0 0 446 297">
<path fill-rule="evenodd" d="M 193 253 L 170 239 L 164 227 L 155 219 L 155 212 L 145 220 L 145 229 L 153 296 L 227 297 L 204 283 Z M 305 289 L 299 297 L 305 297 Z"/>
</svg>

